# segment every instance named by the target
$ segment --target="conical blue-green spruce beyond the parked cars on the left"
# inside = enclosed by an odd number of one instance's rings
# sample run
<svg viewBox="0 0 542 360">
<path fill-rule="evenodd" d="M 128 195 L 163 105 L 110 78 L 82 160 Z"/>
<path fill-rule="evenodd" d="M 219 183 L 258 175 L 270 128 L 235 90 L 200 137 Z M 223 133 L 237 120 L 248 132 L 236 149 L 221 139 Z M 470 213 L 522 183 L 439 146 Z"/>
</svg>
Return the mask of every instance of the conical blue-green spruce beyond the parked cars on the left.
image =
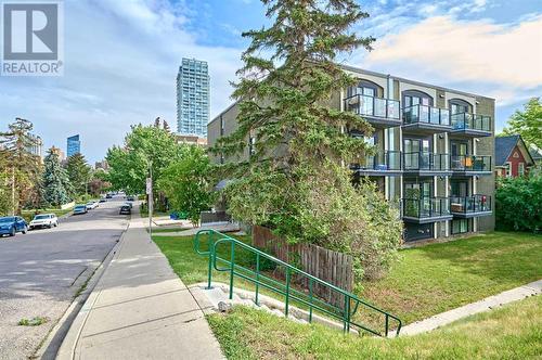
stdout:
<svg viewBox="0 0 542 360">
<path fill-rule="evenodd" d="M 64 169 L 59 159 L 59 155 L 49 150 L 43 160 L 43 197 L 46 202 L 52 206 L 66 204 L 70 201 L 69 197 L 69 178 L 66 169 Z"/>
</svg>

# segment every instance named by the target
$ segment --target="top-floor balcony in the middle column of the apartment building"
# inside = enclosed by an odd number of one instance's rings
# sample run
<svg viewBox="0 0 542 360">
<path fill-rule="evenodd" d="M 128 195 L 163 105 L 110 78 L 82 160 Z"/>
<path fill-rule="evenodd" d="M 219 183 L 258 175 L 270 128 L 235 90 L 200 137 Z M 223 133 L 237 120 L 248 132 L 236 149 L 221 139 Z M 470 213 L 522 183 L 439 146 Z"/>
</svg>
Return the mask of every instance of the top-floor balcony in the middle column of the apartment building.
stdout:
<svg viewBox="0 0 542 360">
<path fill-rule="evenodd" d="M 412 105 L 403 108 L 403 131 L 433 134 L 450 131 L 450 111 L 427 105 Z"/>
</svg>

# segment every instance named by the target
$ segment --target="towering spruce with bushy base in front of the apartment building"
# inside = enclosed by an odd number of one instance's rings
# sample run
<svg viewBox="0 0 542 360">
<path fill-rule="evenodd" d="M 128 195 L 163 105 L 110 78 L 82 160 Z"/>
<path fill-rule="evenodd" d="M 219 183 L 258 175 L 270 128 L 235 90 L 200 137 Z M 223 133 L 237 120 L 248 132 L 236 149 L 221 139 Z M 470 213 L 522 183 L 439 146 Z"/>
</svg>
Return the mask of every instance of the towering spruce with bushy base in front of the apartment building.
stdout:
<svg viewBox="0 0 542 360">
<path fill-rule="evenodd" d="M 351 252 L 378 267 L 397 247 L 400 224 L 374 187 L 362 183 L 357 190 L 350 182 L 348 164 L 364 156 L 369 146 L 349 130 L 369 134 L 372 128 L 360 116 L 340 111 L 339 93 L 356 79 L 337 64 L 343 54 L 371 49 L 374 39 L 353 31 L 369 14 L 353 0 L 262 2 L 272 24 L 243 34 L 251 43 L 242 55 L 233 94 L 238 128 L 211 149 L 235 158 L 253 144 L 246 162 L 223 167 L 223 176 L 234 179 L 225 190 L 229 210 L 240 220 L 273 228 L 291 242 Z M 367 239 L 383 220 L 390 221 L 385 227 L 391 230 Z M 378 248 L 378 254 L 363 253 L 364 246 Z"/>
</svg>

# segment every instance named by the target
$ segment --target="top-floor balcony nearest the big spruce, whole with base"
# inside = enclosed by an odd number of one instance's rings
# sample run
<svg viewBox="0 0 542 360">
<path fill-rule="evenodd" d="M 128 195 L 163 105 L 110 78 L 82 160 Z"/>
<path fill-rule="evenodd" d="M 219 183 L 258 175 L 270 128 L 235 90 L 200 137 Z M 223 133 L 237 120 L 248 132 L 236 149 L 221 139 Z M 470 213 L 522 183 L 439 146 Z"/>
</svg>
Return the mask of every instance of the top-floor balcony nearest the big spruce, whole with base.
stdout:
<svg viewBox="0 0 542 360">
<path fill-rule="evenodd" d="M 345 110 L 364 117 L 375 128 L 401 125 L 397 100 L 356 94 L 345 99 Z"/>
</svg>

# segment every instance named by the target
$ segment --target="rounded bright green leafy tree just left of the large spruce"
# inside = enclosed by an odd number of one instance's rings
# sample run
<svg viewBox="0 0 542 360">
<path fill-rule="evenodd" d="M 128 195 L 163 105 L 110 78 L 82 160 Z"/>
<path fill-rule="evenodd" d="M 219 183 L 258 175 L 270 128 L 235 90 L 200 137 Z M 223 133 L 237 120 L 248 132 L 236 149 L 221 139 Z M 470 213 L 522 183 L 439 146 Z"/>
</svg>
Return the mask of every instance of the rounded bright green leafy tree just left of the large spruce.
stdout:
<svg viewBox="0 0 542 360">
<path fill-rule="evenodd" d="M 199 214 L 209 209 L 216 198 L 211 165 L 199 146 L 183 146 L 180 159 L 164 169 L 157 183 L 171 207 L 186 213 L 194 224 L 199 220 Z"/>
</svg>

